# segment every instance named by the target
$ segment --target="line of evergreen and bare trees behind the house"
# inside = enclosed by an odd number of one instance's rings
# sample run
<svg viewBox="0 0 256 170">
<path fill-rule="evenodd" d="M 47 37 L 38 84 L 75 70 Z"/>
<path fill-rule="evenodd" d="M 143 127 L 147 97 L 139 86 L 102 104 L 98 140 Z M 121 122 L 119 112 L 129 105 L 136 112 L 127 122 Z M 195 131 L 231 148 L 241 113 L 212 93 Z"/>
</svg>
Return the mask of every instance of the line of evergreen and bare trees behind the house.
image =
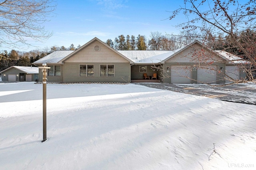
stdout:
<svg viewBox="0 0 256 170">
<path fill-rule="evenodd" d="M 255 56 L 256 48 L 252 45 L 256 42 L 256 31 L 255 30 L 243 30 L 240 31 L 237 35 L 238 41 L 246 48 L 251 55 Z M 199 40 L 208 48 L 213 50 L 224 50 L 229 53 L 244 57 L 244 53 L 236 47 L 234 44 L 226 43 L 230 37 L 225 37 L 222 34 L 212 36 L 198 35 L 196 33 L 190 34 L 180 34 L 180 35 L 162 35 L 159 32 L 152 32 L 150 39 L 147 40 L 145 36 L 138 35 L 120 35 L 115 38 L 115 41 L 108 39 L 106 44 L 110 47 L 113 47 L 116 50 L 176 50 L 180 47 L 184 47 L 189 43 L 192 43 L 195 40 Z M 203 41 L 204 40 L 204 41 Z M 0 71 L 9 68 L 10 66 L 34 66 L 32 63 L 41 59 L 42 57 L 56 51 L 56 50 L 76 50 L 81 46 L 75 47 L 74 44 L 71 44 L 69 48 L 64 46 L 57 47 L 52 46 L 50 48 L 44 47 L 44 49 L 32 50 L 29 52 L 11 50 L 3 51 L 0 53 Z"/>
</svg>

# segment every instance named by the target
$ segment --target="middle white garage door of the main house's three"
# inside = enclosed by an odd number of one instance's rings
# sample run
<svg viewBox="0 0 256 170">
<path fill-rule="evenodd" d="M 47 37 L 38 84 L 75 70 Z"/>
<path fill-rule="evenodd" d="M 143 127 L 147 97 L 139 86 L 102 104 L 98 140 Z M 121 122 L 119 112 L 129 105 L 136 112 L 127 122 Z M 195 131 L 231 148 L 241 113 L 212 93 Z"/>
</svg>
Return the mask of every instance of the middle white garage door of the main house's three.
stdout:
<svg viewBox="0 0 256 170">
<path fill-rule="evenodd" d="M 217 66 L 201 66 L 197 69 L 198 83 L 217 83 Z"/>
</svg>

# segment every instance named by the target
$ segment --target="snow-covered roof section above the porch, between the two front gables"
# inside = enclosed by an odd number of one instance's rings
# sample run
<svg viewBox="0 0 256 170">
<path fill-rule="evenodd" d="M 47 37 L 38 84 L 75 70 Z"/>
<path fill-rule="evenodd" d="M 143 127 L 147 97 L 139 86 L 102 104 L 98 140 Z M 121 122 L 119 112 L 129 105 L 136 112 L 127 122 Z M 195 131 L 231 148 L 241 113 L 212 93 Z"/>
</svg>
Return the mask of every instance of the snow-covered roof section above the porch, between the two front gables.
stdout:
<svg viewBox="0 0 256 170">
<path fill-rule="evenodd" d="M 147 59 L 149 57 L 161 55 L 164 53 L 168 53 L 170 51 L 149 51 L 149 50 L 148 51 L 143 51 L 143 50 L 130 51 L 130 50 L 128 50 L 128 51 L 118 51 L 118 52 L 121 53 L 122 55 L 124 55 L 125 57 L 127 57 L 128 59 L 130 59 L 131 61 L 136 63 L 137 61 Z"/>
</svg>

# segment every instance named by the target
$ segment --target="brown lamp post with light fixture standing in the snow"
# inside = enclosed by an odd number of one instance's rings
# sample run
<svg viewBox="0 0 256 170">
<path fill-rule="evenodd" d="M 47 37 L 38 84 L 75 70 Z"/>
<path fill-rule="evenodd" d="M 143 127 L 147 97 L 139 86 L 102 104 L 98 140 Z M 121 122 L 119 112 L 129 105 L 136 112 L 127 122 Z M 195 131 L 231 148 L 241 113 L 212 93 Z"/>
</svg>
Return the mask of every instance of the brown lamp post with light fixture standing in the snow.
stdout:
<svg viewBox="0 0 256 170">
<path fill-rule="evenodd" d="M 46 67 L 46 63 L 42 64 L 42 67 L 38 67 L 42 69 L 43 72 L 43 140 L 42 142 L 46 141 L 46 70 L 50 69 L 50 67 Z"/>
</svg>

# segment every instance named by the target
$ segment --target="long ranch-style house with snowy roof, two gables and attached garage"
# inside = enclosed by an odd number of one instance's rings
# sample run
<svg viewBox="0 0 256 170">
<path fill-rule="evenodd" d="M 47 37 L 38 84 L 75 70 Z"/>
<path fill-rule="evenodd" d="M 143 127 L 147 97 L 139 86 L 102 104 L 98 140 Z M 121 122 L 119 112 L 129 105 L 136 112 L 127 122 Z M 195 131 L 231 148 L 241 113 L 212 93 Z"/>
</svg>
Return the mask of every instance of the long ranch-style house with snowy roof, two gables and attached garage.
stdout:
<svg viewBox="0 0 256 170">
<path fill-rule="evenodd" d="M 48 82 L 130 83 L 156 79 L 164 83 L 216 84 L 225 83 L 223 73 L 229 62 L 199 41 L 175 51 L 116 51 L 95 37 L 76 51 L 54 51 L 33 64 L 43 63 L 50 67 Z M 236 71 L 239 78 L 245 76 L 238 68 Z"/>
</svg>

